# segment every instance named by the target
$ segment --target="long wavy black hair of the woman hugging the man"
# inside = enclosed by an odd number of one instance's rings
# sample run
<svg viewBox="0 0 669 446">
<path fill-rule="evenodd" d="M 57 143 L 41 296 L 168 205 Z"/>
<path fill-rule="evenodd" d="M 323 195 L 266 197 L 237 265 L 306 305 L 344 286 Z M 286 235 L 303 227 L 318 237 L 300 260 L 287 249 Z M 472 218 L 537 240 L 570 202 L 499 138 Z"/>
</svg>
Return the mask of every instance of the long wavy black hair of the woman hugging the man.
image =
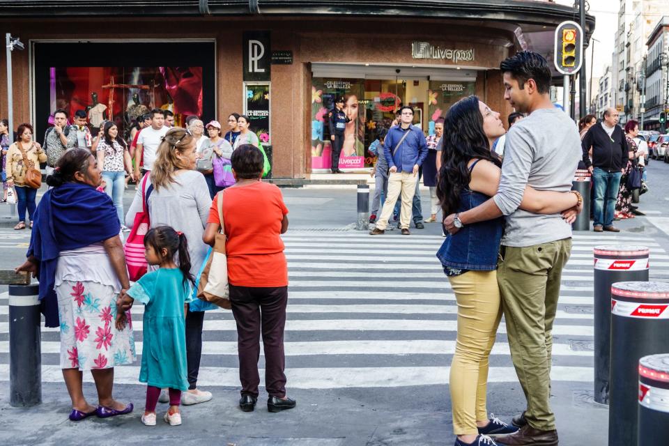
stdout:
<svg viewBox="0 0 669 446">
<path fill-rule="evenodd" d="M 483 116 L 479 98 L 475 95 L 456 102 L 444 119 L 441 169 L 437 174 L 437 197 L 443 215 L 457 212 L 460 193 L 469 185 L 471 176 L 467 164 L 472 158 L 488 160 L 501 166 L 500 159 L 490 151 L 483 131 Z"/>
</svg>

